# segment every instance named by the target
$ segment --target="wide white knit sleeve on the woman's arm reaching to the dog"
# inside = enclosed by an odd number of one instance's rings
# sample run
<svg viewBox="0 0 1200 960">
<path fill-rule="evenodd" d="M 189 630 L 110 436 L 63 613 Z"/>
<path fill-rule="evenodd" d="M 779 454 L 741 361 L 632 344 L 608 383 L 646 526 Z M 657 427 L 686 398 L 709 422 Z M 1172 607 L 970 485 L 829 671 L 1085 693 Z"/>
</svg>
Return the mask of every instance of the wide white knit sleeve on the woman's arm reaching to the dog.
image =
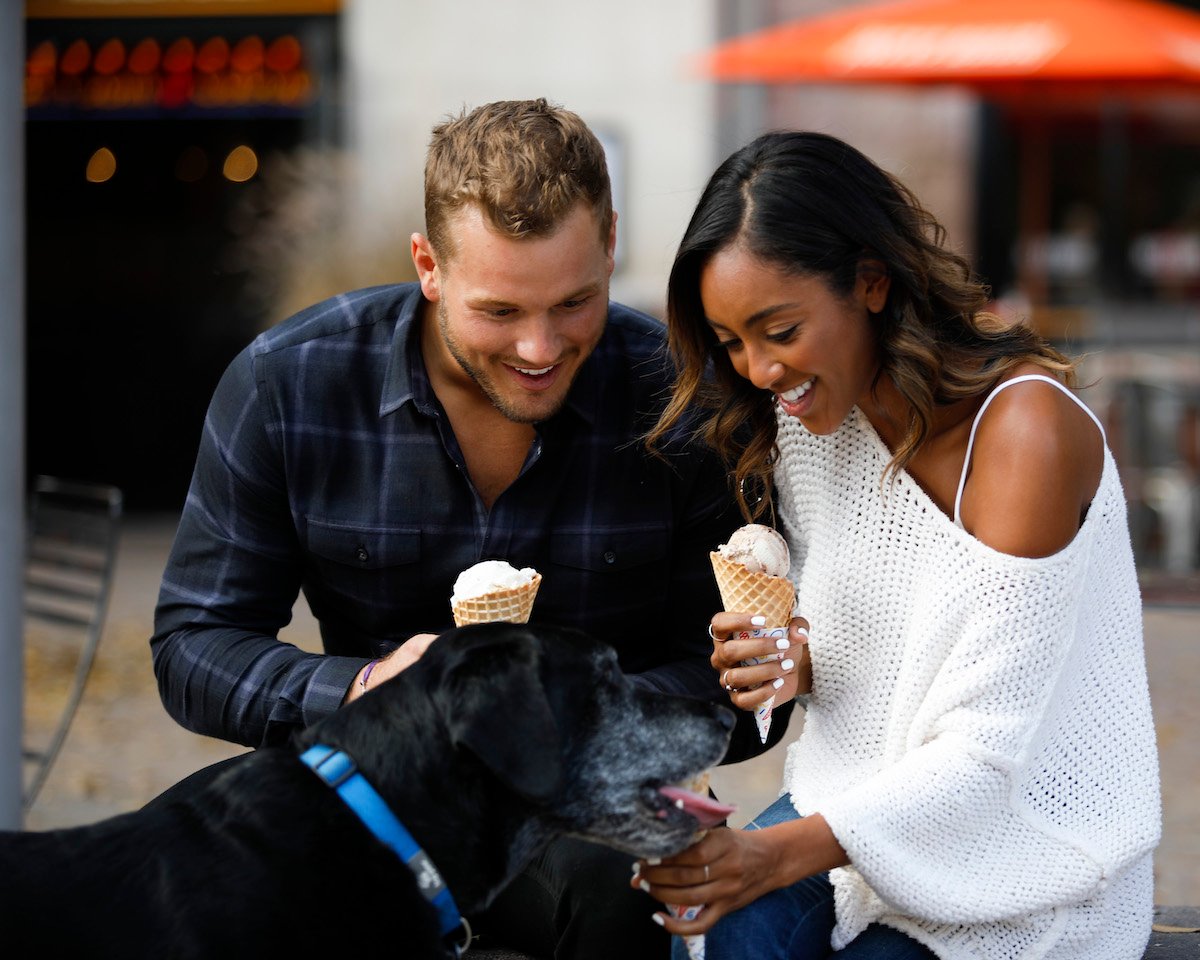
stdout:
<svg viewBox="0 0 1200 960">
<path fill-rule="evenodd" d="M 1081 902 L 1118 868 L 1056 823 L 1055 804 L 1078 798 L 1038 769 L 1061 732 L 1051 704 L 1078 688 L 1086 544 L 1037 560 L 977 546 L 923 600 L 929 667 L 905 685 L 920 698 L 907 742 L 820 804 L 884 901 L 952 924 Z"/>
</svg>

